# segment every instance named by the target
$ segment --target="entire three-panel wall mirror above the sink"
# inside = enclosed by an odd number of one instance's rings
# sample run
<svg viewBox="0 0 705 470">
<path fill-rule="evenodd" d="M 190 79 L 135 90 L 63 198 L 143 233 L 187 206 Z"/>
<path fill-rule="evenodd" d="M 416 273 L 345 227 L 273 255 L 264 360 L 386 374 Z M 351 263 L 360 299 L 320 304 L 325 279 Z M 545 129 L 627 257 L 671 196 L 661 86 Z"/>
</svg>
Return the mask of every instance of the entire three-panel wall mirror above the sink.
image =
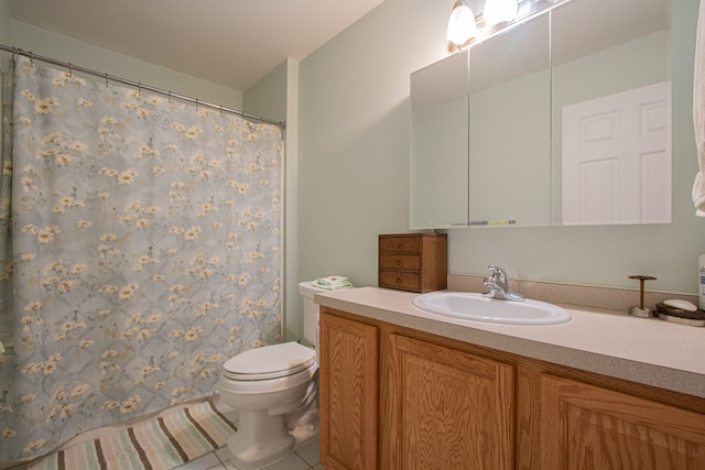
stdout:
<svg viewBox="0 0 705 470">
<path fill-rule="evenodd" d="M 669 222 L 670 97 L 670 0 L 572 0 L 412 74 L 410 228 Z"/>
</svg>

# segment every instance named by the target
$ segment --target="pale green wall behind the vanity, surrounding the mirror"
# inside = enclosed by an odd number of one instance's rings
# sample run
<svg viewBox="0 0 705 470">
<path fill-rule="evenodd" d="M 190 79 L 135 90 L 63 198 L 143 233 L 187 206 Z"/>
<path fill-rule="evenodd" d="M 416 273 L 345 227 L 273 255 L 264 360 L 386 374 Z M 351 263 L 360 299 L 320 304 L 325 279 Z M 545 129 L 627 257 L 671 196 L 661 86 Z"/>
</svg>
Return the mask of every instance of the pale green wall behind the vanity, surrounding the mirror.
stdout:
<svg viewBox="0 0 705 470">
<path fill-rule="evenodd" d="M 584 0 L 588 1 L 588 0 Z M 447 56 L 452 1 L 386 0 L 300 65 L 299 278 L 377 285 L 377 236 L 409 231 L 409 75 Z M 448 231 L 451 273 L 696 292 L 692 121 L 698 0 L 673 1 L 673 223 Z M 511 190 L 510 188 L 508 190 Z M 518 195 L 519 196 L 519 195 Z"/>
</svg>

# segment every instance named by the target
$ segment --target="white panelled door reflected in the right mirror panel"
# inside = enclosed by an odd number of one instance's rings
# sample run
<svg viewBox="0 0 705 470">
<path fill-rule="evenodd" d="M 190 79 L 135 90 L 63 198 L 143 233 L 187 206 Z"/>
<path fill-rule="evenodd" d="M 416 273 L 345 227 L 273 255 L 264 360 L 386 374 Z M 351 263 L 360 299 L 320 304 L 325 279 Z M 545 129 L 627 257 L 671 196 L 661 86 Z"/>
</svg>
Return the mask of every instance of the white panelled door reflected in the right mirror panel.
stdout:
<svg viewBox="0 0 705 470">
<path fill-rule="evenodd" d="M 563 225 L 671 221 L 671 84 L 563 108 Z"/>
</svg>

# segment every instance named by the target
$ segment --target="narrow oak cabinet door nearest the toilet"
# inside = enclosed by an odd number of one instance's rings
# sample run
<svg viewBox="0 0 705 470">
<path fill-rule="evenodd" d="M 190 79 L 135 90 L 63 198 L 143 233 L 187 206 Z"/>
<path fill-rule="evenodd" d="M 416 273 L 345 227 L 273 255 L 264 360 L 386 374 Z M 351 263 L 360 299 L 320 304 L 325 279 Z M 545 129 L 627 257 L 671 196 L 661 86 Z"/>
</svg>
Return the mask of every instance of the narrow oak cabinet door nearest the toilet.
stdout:
<svg viewBox="0 0 705 470">
<path fill-rule="evenodd" d="M 377 469 L 377 327 L 321 316 L 321 463 Z"/>
</svg>

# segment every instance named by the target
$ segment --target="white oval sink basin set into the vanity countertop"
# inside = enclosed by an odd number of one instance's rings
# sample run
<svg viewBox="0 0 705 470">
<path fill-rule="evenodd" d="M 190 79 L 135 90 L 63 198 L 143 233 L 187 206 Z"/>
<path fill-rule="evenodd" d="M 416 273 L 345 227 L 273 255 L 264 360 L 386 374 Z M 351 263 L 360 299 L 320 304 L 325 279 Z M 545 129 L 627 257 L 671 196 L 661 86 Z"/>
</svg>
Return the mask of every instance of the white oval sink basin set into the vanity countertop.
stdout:
<svg viewBox="0 0 705 470">
<path fill-rule="evenodd" d="M 414 297 L 412 305 L 445 317 L 490 324 L 558 325 L 573 318 L 566 309 L 545 302 L 499 300 L 467 292 L 430 292 Z"/>
</svg>

